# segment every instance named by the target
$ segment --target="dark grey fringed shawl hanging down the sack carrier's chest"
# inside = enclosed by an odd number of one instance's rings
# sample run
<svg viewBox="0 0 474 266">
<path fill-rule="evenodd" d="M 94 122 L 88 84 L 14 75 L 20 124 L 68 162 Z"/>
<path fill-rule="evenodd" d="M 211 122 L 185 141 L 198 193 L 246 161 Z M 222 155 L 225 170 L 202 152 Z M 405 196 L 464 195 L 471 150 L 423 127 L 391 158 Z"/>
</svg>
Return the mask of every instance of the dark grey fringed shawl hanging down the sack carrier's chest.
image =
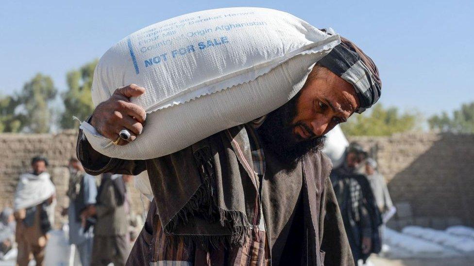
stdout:
<svg viewBox="0 0 474 266">
<path fill-rule="evenodd" d="M 258 237 L 257 177 L 244 126 L 221 131 L 147 166 L 163 230 L 204 247 Z M 155 172 L 156 171 L 156 172 Z"/>
</svg>

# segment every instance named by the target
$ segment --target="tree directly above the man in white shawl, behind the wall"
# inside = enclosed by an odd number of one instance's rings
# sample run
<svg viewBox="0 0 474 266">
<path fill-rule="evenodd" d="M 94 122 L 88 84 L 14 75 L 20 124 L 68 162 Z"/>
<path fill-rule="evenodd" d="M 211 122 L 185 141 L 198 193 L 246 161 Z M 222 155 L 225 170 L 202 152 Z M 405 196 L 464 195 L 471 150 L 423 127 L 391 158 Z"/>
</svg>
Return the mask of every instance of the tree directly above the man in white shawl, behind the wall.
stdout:
<svg viewBox="0 0 474 266">
<path fill-rule="evenodd" d="M 18 96 L 21 103 L 21 123 L 27 131 L 47 133 L 51 127 L 49 103 L 54 100 L 57 89 L 49 76 L 41 73 L 26 82 Z"/>
</svg>

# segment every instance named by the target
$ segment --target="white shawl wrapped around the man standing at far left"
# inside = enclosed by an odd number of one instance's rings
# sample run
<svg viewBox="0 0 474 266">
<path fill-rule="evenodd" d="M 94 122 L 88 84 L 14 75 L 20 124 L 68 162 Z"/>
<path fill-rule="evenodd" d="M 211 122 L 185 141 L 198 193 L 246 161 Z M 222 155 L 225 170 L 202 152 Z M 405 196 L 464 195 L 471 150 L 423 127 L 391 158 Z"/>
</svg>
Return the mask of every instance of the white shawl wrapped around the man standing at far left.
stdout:
<svg viewBox="0 0 474 266">
<path fill-rule="evenodd" d="M 55 191 L 49 173 L 42 172 L 39 175 L 24 173 L 20 175 L 15 192 L 15 210 L 38 205 L 49 199 Z"/>
</svg>

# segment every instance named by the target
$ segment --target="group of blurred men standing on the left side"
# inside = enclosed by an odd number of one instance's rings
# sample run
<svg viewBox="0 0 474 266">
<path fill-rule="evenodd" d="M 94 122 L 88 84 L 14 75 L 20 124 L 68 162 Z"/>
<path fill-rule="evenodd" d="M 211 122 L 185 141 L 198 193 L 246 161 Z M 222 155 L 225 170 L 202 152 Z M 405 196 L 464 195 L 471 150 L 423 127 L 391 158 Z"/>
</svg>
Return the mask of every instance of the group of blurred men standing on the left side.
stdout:
<svg viewBox="0 0 474 266">
<path fill-rule="evenodd" d="M 16 248 L 18 266 L 27 266 L 33 259 L 37 266 L 45 265 L 56 205 L 48 165 L 46 157 L 35 156 L 32 171 L 20 175 L 14 208 L 1 212 L 0 259 Z M 68 168 L 69 206 L 62 208 L 61 215 L 68 216 L 69 243 L 75 246 L 81 264 L 125 265 L 140 224 L 127 190 L 133 176 L 92 176 L 75 157 L 70 158 Z"/>
</svg>

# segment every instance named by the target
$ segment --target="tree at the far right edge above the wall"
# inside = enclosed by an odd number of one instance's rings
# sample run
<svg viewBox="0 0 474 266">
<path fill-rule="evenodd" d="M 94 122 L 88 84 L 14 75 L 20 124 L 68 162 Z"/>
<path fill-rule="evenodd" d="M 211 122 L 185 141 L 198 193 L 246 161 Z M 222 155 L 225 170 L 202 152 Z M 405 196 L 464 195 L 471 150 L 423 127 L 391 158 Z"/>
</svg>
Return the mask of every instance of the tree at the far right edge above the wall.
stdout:
<svg viewBox="0 0 474 266">
<path fill-rule="evenodd" d="M 431 129 L 441 132 L 474 133 L 474 102 L 463 104 L 459 110 L 453 111 L 450 117 L 446 112 L 433 115 L 428 119 Z"/>
</svg>

